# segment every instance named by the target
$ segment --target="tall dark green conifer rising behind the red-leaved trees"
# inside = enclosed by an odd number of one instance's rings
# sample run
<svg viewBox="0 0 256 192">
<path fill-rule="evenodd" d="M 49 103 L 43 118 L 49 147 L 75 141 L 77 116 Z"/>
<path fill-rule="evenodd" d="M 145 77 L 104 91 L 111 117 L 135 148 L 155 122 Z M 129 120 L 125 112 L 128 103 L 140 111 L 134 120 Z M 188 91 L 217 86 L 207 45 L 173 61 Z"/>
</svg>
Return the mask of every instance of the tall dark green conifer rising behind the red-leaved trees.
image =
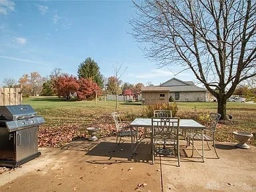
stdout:
<svg viewBox="0 0 256 192">
<path fill-rule="evenodd" d="M 91 57 L 88 57 L 79 65 L 77 74 L 79 79 L 91 79 L 99 87 L 103 87 L 103 75 L 99 71 L 98 64 Z"/>
</svg>

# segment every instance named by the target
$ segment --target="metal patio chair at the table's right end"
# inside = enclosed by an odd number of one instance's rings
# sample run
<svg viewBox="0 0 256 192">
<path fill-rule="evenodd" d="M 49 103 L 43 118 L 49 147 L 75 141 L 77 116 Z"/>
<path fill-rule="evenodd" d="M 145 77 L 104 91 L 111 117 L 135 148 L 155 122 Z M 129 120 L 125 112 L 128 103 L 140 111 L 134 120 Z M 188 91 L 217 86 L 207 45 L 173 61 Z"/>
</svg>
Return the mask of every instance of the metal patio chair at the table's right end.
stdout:
<svg viewBox="0 0 256 192">
<path fill-rule="evenodd" d="M 215 154 L 217 158 L 219 159 L 219 156 L 216 151 L 215 147 L 215 131 L 216 131 L 216 125 L 219 122 L 219 119 L 221 118 L 221 115 L 219 113 L 210 113 L 209 119 L 207 121 L 206 129 L 203 130 L 203 135 L 201 133 L 188 133 L 187 134 L 187 145 L 192 141 L 192 155 L 194 153 L 194 141 L 201 141 L 202 139 L 206 141 L 208 149 L 210 149 L 209 142 L 208 141 L 213 141 L 213 148 L 215 151 Z"/>
</svg>

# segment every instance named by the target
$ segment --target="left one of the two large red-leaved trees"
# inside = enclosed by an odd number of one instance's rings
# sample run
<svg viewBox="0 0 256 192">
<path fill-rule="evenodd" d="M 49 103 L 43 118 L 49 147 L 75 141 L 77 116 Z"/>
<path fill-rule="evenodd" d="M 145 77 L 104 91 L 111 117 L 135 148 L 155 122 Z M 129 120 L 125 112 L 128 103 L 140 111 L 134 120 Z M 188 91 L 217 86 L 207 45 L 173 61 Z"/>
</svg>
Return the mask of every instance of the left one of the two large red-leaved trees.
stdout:
<svg viewBox="0 0 256 192">
<path fill-rule="evenodd" d="M 79 82 L 73 75 L 62 75 L 57 78 L 55 90 L 59 97 L 70 100 L 79 90 Z"/>
</svg>

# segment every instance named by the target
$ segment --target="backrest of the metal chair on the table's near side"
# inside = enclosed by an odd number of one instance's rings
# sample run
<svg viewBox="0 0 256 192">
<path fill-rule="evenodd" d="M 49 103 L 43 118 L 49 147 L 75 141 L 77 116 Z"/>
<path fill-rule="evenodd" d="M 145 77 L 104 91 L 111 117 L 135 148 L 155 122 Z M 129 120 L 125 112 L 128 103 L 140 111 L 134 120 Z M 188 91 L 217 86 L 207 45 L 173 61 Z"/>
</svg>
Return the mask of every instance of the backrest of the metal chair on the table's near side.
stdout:
<svg viewBox="0 0 256 192">
<path fill-rule="evenodd" d="M 179 138 L 179 117 L 152 117 L 151 126 L 153 138 Z"/>
</svg>

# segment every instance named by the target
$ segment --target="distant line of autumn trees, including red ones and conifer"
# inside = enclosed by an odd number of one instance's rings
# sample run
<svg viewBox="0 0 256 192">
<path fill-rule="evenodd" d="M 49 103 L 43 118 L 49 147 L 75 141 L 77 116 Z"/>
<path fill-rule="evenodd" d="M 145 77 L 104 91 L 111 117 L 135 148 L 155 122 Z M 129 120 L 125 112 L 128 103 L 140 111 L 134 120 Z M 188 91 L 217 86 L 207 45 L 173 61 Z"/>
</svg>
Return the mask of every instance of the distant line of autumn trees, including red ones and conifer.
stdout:
<svg viewBox="0 0 256 192">
<path fill-rule="evenodd" d="M 19 81 L 4 79 L 5 87 L 20 87 L 23 97 L 53 96 L 63 97 L 66 100 L 91 100 L 96 94 L 118 95 L 141 94 L 142 83 L 136 85 L 123 83 L 115 76 L 104 78 L 99 71 L 98 64 L 88 57 L 77 69 L 77 77 L 63 73 L 62 69 L 55 68 L 49 77 L 41 77 L 38 72 L 24 74 Z"/>
</svg>

